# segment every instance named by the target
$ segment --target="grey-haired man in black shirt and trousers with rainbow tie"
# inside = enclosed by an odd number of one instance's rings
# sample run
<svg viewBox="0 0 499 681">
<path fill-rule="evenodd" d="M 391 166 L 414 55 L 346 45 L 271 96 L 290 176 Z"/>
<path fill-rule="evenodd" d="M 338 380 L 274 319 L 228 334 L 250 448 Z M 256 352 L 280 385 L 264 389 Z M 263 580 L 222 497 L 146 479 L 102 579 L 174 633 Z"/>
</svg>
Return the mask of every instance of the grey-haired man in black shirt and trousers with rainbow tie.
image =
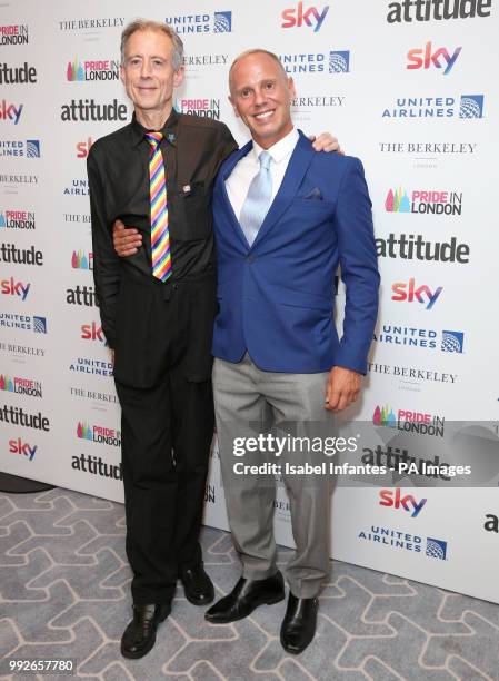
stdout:
<svg viewBox="0 0 499 681">
<path fill-rule="evenodd" d="M 172 110 L 173 88 L 183 79 L 183 46 L 172 29 L 134 21 L 121 50 L 133 119 L 93 145 L 88 176 L 93 275 L 122 408 L 133 620 L 121 651 L 140 658 L 170 612 L 178 578 L 190 602 L 213 599 L 198 542 L 214 423 L 210 204 L 217 170 L 237 145 L 223 124 Z M 162 134 L 172 264 L 166 280 L 151 267 L 149 131 Z M 112 245 L 117 219 L 143 235 L 143 247 L 127 259 Z"/>
</svg>

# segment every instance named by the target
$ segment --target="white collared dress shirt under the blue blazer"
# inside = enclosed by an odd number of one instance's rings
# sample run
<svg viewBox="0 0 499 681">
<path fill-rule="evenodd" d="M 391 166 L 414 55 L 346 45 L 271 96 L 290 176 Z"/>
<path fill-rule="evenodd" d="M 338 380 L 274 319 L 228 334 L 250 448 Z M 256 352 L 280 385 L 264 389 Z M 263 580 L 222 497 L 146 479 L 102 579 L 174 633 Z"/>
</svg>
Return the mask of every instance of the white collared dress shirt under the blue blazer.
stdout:
<svg viewBox="0 0 499 681">
<path fill-rule="evenodd" d="M 238 161 L 226 180 L 227 194 L 232 205 L 236 217 L 239 220 L 242 205 L 248 194 L 249 186 L 253 177 L 260 171 L 260 152 L 266 150 L 272 157 L 270 162 L 270 174 L 272 176 L 272 201 L 279 191 L 286 169 L 288 168 L 291 154 L 299 139 L 298 130 L 293 128 L 286 137 L 272 145 L 269 149 L 263 149 L 253 140 L 253 148 Z"/>
</svg>

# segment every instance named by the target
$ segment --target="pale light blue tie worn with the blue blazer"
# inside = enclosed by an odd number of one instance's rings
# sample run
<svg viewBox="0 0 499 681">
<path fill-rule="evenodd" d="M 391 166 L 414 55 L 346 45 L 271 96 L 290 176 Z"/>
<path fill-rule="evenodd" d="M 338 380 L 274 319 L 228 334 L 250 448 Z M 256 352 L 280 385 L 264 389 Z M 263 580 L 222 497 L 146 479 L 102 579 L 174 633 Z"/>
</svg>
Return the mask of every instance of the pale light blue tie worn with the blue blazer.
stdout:
<svg viewBox="0 0 499 681">
<path fill-rule="evenodd" d="M 272 203 L 272 176 L 270 174 L 272 157 L 268 151 L 262 151 L 258 160 L 260 161 L 260 170 L 251 180 L 239 218 L 242 231 L 250 246 L 257 238 Z"/>
</svg>

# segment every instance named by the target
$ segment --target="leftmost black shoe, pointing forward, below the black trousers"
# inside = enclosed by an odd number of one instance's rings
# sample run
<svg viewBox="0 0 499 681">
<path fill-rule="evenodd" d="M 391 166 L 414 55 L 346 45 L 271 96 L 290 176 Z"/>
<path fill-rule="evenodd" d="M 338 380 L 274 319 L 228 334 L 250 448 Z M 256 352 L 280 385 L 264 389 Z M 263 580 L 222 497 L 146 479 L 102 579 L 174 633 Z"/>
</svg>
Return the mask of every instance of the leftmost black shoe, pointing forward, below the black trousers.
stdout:
<svg viewBox="0 0 499 681">
<path fill-rule="evenodd" d="M 123 658 L 142 658 L 156 643 L 156 630 L 159 622 L 168 618 L 171 604 L 139 605 L 133 603 L 133 620 L 121 636 L 121 654 Z"/>
</svg>

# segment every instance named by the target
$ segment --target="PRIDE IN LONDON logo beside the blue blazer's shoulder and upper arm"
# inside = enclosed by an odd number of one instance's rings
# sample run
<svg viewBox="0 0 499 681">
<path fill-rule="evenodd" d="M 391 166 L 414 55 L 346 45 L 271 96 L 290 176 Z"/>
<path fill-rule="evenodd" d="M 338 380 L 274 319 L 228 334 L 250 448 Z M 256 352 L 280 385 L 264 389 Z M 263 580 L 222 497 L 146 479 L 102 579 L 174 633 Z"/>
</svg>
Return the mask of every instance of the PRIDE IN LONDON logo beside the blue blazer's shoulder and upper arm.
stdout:
<svg viewBox="0 0 499 681">
<path fill-rule="evenodd" d="M 408 193 L 402 187 L 398 187 L 388 190 L 385 210 L 387 213 L 461 215 L 462 193 L 427 189 Z"/>
</svg>

